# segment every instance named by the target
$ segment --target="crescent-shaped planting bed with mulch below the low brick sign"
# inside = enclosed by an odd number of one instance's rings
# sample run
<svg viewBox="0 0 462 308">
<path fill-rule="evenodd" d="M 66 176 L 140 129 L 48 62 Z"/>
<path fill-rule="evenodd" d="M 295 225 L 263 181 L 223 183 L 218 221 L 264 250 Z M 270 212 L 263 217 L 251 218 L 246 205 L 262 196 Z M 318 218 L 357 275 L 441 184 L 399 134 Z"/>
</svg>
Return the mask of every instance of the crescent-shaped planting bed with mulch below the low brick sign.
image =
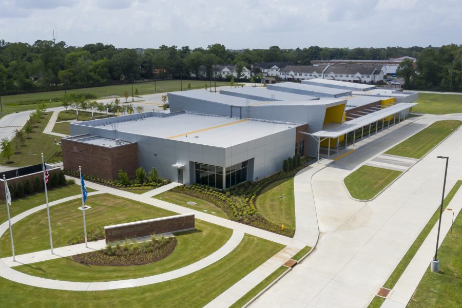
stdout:
<svg viewBox="0 0 462 308">
<path fill-rule="evenodd" d="M 156 262 L 170 255 L 177 246 L 175 237 L 152 237 L 150 241 L 129 243 L 123 245 L 108 244 L 102 251 L 75 255 L 72 258 L 89 265 L 127 266 L 142 265 Z"/>
</svg>

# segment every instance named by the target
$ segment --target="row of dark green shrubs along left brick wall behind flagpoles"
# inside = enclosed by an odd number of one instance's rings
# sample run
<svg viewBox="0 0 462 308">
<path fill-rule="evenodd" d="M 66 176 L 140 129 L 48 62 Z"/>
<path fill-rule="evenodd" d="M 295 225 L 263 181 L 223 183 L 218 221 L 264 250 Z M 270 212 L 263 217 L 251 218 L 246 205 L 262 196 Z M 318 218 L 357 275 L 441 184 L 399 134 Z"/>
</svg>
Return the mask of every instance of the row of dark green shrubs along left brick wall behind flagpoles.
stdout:
<svg viewBox="0 0 462 308">
<path fill-rule="evenodd" d="M 66 178 L 64 177 L 64 172 L 60 171 L 58 174 L 53 172 L 50 175 L 50 179 L 47 184 L 47 188 L 67 185 Z M 34 192 L 42 191 L 43 187 L 43 178 L 42 175 L 35 176 L 33 182 L 29 179 L 25 179 L 24 182 L 8 183 L 8 189 L 10 190 L 11 198 L 21 198 L 24 195 L 33 194 Z"/>
</svg>

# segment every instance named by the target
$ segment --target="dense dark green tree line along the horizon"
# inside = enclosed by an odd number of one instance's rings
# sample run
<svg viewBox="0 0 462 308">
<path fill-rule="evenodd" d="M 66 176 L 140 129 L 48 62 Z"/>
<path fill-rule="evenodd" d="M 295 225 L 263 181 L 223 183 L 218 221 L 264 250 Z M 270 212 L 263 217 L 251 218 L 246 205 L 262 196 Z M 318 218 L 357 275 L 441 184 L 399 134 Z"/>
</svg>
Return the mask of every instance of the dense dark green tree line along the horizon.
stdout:
<svg viewBox="0 0 462 308">
<path fill-rule="evenodd" d="M 210 74 L 215 64 L 236 64 L 251 67 L 257 62 L 290 62 L 309 65 L 312 60 L 353 59 L 387 60 L 408 55 L 416 57 L 417 72 L 409 74 L 409 86 L 444 87 L 460 90 L 461 47 L 387 47 L 387 48 L 307 48 L 230 50 L 222 44 L 190 49 L 188 46 L 162 45 L 159 48 L 115 48 L 103 43 L 83 47 L 68 46 L 65 42 L 36 41 L 9 43 L 0 40 L 0 91 L 53 89 L 56 85 L 69 87 L 100 85 L 108 81 L 151 79 L 172 76 L 180 78 L 189 72 L 198 74 L 201 66 Z M 404 70 L 403 67 L 401 70 Z M 409 70 L 409 69 L 408 69 Z M 448 89 L 449 89 L 448 88 Z"/>
</svg>

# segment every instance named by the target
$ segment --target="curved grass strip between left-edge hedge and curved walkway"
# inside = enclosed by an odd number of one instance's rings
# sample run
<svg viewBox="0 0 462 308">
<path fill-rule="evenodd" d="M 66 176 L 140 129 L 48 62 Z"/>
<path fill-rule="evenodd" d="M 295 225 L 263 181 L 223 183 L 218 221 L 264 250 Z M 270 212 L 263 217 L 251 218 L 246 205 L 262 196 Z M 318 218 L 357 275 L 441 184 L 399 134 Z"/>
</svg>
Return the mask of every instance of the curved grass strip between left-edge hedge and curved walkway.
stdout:
<svg viewBox="0 0 462 308">
<path fill-rule="evenodd" d="M 94 191 L 94 189 L 87 188 L 88 192 Z M 70 196 L 80 195 L 81 190 L 79 185 L 67 185 L 62 187 L 56 187 L 48 189 L 48 202 L 63 199 Z M 29 195 L 23 198 L 14 198 L 10 205 L 10 215 L 14 217 L 18 214 L 23 213 L 32 207 L 45 204 L 45 191 Z M 3 223 L 8 219 L 5 200 L 0 201 L 0 223 Z"/>
</svg>

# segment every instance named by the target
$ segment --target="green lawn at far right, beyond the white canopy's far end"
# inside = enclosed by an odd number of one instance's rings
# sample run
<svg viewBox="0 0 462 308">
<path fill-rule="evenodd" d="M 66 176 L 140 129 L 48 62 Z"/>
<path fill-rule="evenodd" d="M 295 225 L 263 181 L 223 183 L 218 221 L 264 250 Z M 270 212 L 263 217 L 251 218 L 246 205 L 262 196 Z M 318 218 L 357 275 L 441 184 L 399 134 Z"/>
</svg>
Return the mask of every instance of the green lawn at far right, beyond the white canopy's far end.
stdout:
<svg viewBox="0 0 462 308">
<path fill-rule="evenodd" d="M 447 114 L 462 112 L 462 95 L 419 93 L 412 112 Z"/>
</svg>

